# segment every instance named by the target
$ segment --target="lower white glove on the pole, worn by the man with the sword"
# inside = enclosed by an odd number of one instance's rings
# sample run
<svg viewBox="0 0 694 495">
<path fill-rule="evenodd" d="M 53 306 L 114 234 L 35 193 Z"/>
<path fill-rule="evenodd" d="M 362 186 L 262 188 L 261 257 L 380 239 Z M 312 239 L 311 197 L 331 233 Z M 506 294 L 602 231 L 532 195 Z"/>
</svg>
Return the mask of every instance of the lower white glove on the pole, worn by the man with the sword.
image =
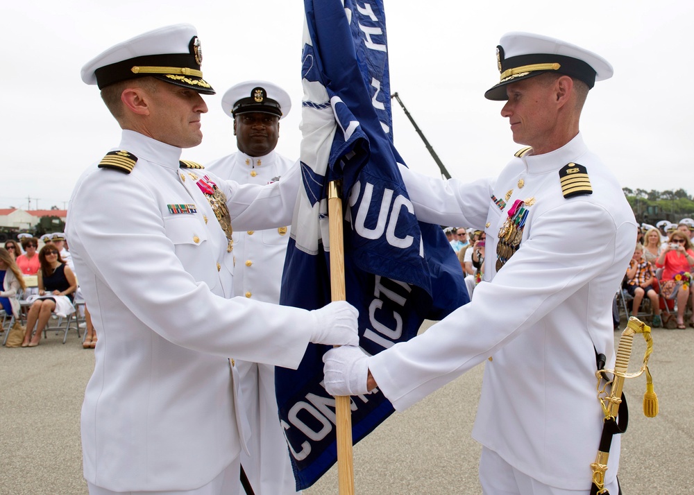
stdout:
<svg viewBox="0 0 694 495">
<path fill-rule="evenodd" d="M 333 397 L 338 395 L 368 394 L 366 379 L 369 376 L 369 357 L 360 347 L 344 345 L 330 349 L 323 356 L 325 390 Z"/>
</svg>

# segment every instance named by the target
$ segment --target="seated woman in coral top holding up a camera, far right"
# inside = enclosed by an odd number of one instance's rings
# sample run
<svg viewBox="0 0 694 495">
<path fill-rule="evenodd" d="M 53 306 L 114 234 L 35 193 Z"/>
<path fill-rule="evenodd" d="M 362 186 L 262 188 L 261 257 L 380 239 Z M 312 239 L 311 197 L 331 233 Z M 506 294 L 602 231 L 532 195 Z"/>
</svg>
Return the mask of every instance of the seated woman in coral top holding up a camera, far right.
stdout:
<svg viewBox="0 0 694 495">
<path fill-rule="evenodd" d="M 660 281 L 663 296 L 667 299 L 677 297 L 677 328 L 684 329 L 684 311 L 691 292 L 689 274 L 694 266 L 694 251 L 689 236 L 681 230 L 672 232 L 670 241 L 663 245 L 655 266 L 663 269 Z M 694 315 L 689 326 L 694 327 Z"/>
</svg>

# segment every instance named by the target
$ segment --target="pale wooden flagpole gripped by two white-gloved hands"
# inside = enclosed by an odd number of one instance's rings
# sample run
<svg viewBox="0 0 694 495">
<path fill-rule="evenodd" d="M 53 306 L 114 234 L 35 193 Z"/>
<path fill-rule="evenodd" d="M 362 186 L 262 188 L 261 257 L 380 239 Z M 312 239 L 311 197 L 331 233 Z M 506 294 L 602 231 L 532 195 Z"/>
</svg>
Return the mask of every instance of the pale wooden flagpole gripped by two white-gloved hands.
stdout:
<svg viewBox="0 0 694 495">
<path fill-rule="evenodd" d="M 330 289 L 333 301 L 345 301 L 345 261 L 342 236 L 342 200 L 335 180 L 328 184 L 330 219 Z M 335 397 L 337 420 L 337 477 L 339 495 L 354 495 L 354 458 L 352 452 L 352 410 L 350 397 Z"/>
</svg>

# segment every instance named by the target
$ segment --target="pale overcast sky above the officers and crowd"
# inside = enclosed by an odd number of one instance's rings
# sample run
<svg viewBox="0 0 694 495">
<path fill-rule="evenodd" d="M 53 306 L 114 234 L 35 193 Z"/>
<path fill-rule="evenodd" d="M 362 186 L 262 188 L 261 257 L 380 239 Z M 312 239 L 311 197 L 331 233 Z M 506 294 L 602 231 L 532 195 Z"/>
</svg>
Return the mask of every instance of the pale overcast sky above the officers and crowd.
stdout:
<svg viewBox="0 0 694 495">
<path fill-rule="evenodd" d="M 584 46 L 613 65 L 615 76 L 589 94 L 581 130 L 623 186 L 694 192 L 691 0 L 385 0 L 385 11 L 391 90 L 454 177 L 496 175 L 520 148 L 500 116 L 502 103 L 484 92 L 498 82 L 501 35 L 529 31 Z M 204 77 L 217 90 L 205 96 L 203 144 L 183 158 L 204 164 L 236 149 L 221 95 L 249 79 L 289 92 L 294 106 L 277 150 L 298 157 L 302 1 L 4 1 L 0 19 L 0 207 L 26 208 L 28 198 L 32 209 L 67 206 L 77 177 L 120 135 L 99 90 L 82 83 L 81 67 L 128 37 L 179 22 L 196 26 Z M 395 101 L 393 135 L 408 166 L 438 175 Z"/>
</svg>

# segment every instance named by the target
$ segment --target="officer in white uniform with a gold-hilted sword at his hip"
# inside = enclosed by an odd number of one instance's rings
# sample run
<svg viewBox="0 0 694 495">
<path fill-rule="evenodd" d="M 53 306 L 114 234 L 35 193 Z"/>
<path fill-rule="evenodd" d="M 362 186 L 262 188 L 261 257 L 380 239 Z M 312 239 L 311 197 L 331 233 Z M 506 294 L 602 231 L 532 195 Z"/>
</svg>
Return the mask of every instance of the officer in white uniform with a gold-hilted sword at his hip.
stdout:
<svg viewBox="0 0 694 495">
<path fill-rule="evenodd" d="M 402 168 L 419 220 L 486 227 L 484 281 L 470 304 L 409 342 L 370 358 L 329 351 L 325 383 L 336 395 L 378 386 L 403 410 L 485 363 L 473 428 L 484 493 L 588 494 L 603 420 L 596 353 L 613 365 L 611 302 L 636 240 L 620 185 L 579 132 L 589 88 L 612 67 L 526 33 L 503 36 L 498 50 L 501 80 L 485 96 L 507 100 L 501 114 L 514 141 L 532 148 L 496 181 L 443 182 Z M 618 461 L 616 438 L 613 495 Z"/>
</svg>

